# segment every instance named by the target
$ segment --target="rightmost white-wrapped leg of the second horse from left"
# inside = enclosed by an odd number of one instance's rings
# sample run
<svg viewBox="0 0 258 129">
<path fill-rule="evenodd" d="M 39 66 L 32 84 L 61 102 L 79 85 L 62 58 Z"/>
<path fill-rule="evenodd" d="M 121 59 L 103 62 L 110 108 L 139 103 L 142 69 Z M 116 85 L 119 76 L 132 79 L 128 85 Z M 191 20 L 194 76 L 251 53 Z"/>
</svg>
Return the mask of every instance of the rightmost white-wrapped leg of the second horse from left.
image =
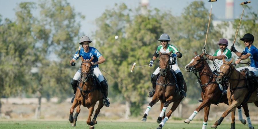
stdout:
<svg viewBox="0 0 258 129">
<path fill-rule="evenodd" d="M 177 107 L 178 107 L 179 103 L 181 102 L 181 100 L 182 100 L 182 99 L 179 99 L 179 100 L 177 100 L 177 101 L 175 101 L 175 102 L 173 103 L 171 109 L 170 109 L 169 112 L 166 114 L 166 117 L 160 122 L 160 124 L 159 124 L 159 126 L 158 126 L 157 129 L 161 129 L 161 128 L 165 125 L 165 123 L 167 122 L 167 120 L 170 118 L 171 114 L 177 109 Z M 164 103 L 164 107 L 167 107 L 168 105 L 169 105 L 168 102 L 165 102 L 165 103 Z M 164 107 L 163 107 L 163 109 L 164 109 Z M 162 109 L 162 110 L 163 110 L 163 109 Z M 165 112 L 164 112 L 164 113 L 165 113 Z M 159 117 L 159 118 L 160 118 L 160 117 Z"/>
</svg>

